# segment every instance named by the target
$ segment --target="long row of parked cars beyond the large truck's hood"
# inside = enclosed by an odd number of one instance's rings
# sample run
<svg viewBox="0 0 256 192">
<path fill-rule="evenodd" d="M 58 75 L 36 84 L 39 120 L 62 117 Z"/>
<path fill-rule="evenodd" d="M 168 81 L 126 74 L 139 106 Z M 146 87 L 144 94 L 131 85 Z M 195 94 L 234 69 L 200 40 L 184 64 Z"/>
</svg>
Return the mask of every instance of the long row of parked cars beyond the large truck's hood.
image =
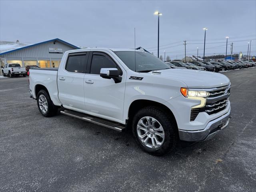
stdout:
<svg viewBox="0 0 256 192">
<path fill-rule="evenodd" d="M 185 68 L 185 69 L 212 71 L 212 72 L 219 72 L 224 70 L 226 71 L 226 70 L 256 66 L 255 62 L 250 62 L 250 61 L 220 61 L 220 62 L 170 61 L 170 62 L 166 62 L 166 64 L 168 64 L 171 68 Z"/>
</svg>

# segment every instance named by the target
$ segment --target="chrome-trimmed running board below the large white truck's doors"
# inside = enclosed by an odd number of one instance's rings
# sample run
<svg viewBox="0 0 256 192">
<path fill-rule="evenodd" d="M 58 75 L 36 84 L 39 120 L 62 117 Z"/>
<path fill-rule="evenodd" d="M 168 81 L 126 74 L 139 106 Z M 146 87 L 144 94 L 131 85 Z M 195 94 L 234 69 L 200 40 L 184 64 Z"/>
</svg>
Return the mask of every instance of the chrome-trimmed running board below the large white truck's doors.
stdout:
<svg viewBox="0 0 256 192">
<path fill-rule="evenodd" d="M 88 121 L 97 125 L 101 125 L 119 132 L 122 132 L 122 130 L 125 129 L 125 126 L 118 124 L 116 122 L 112 122 L 109 120 L 105 120 L 102 118 L 97 118 L 97 117 L 93 117 L 93 116 L 88 116 L 87 114 L 84 113 L 80 113 L 80 112 L 74 112 L 74 111 L 69 111 L 69 110 L 64 110 L 64 111 L 60 111 L 60 113 L 64 114 L 64 115 L 68 115 L 74 118 L 78 118 L 84 121 Z"/>
</svg>

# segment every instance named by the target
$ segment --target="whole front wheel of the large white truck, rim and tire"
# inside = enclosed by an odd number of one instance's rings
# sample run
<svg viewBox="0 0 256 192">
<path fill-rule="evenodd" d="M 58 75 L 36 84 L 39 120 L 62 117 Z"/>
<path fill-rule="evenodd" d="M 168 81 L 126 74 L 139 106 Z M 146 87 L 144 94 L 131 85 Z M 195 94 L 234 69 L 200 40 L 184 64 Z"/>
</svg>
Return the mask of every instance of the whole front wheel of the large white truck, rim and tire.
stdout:
<svg viewBox="0 0 256 192">
<path fill-rule="evenodd" d="M 140 147 L 153 155 L 173 151 L 178 142 L 175 120 L 158 107 L 143 108 L 134 116 L 132 132 Z"/>
</svg>

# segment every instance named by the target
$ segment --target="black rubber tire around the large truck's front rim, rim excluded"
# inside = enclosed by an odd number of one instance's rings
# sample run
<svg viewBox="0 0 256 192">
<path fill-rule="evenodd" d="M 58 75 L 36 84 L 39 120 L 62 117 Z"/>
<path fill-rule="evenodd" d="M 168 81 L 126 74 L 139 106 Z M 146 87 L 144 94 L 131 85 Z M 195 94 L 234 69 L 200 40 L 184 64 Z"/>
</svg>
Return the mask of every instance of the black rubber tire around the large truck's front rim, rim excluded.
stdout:
<svg viewBox="0 0 256 192">
<path fill-rule="evenodd" d="M 138 137 L 137 124 L 138 121 L 145 116 L 150 116 L 158 120 L 164 129 L 164 142 L 160 147 L 156 149 L 145 146 L 142 144 L 142 141 Z M 153 155 L 164 155 L 169 152 L 173 152 L 176 149 L 178 142 L 178 128 L 176 126 L 175 120 L 170 117 L 170 114 L 167 114 L 156 106 L 142 108 L 135 114 L 132 121 L 132 133 L 136 138 L 136 142 L 139 144 L 139 146 L 144 151 Z"/>
</svg>

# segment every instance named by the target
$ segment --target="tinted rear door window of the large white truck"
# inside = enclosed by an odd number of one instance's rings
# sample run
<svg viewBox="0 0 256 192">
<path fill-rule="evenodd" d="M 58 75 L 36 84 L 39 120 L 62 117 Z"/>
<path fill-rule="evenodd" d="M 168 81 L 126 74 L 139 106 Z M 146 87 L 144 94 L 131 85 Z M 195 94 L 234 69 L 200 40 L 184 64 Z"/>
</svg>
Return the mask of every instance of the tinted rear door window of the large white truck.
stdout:
<svg viewBox="0 0 256 192">
<path fill-rule="evenodd" d="M 75 73 L 85 73 L 87 64 L 86 53 L 79 55 L 69 55 L 66 64 L 66 70 Z"/>
</svg>

